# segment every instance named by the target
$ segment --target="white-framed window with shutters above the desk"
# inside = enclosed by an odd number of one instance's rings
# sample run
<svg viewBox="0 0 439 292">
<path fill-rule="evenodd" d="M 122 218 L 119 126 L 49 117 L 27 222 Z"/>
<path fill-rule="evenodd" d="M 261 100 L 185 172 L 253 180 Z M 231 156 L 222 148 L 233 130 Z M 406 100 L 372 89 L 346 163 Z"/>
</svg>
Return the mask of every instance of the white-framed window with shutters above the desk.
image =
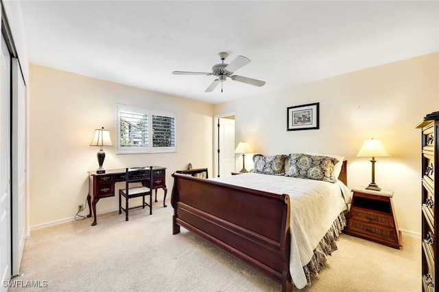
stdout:
<svg viewBox="0 0 439 292">
<path fill-rule="evenodd" d="M 117 153 L 176 151 L 176 115 L 117 105 Z"/>
</svg>

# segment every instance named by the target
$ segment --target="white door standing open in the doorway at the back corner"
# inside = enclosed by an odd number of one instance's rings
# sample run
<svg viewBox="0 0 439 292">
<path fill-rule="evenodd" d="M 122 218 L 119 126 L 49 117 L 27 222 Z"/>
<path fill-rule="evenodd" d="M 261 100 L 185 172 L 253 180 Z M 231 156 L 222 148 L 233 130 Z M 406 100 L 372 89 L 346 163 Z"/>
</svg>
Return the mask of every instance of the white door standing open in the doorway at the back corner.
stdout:
<svg viewBox="0 0 439 292">
<path fill-rule="evenodd" d="M 233 118 L 218 118 L 219 170 L 217 174 L 219 176 L 228 176 L 230 172 L 235 171 L 235 120 Z"/>
</svg>

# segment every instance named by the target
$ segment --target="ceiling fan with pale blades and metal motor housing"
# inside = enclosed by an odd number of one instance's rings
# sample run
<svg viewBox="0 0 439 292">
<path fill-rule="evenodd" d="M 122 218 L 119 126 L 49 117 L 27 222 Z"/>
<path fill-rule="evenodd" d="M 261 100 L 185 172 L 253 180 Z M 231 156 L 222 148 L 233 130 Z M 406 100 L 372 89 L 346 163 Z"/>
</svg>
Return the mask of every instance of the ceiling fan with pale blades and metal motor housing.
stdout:
<svg viewBox="0 0 439 292">
<path fill-rule="evenodd" d="M 239 55 L 234 59 L 230 64 L 225 64 L 224 59 L 228 56 L 228 53 L 219 53 L 219 58 L 222 60 L 221 64 L 213 65 L 212 72 L 187 72 L 187 71 L 174 71 L 172 74 L 174 75 L 214 75 L 218 77 L 215 79 L 211 85 L 204 91 L 204 92 L 212 92 L 218 85 L 218 83 L 221 82 L 221 92 L 222 92 L 222 83 L 226 81 L 227 77 L 229 77 L 232 80 L 247 83 L 250 85 L 255 86 L 263 86 L 265 84 L 265 81 L 252 79 L 244 76 L 239 75 L 233 75 L 233 72 L 238 70 L 239 68 L 246 66 L 248 63 L 250 63 L 250 59 L 248 57 L 244 57 Z"/>
</svg>

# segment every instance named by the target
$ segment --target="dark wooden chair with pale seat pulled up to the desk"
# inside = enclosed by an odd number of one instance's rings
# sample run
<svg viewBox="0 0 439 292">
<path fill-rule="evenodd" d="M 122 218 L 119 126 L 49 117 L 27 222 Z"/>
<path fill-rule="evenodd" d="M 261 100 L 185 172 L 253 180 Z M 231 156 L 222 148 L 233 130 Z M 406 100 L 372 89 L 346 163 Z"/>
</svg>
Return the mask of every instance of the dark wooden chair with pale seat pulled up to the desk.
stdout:
<svg viewBox="0 0 439 292">
<path fill-rule="evenodd" d="M 141 183 L 139 186 L 132 186 L 132 183 Z M 131 184 L 131 185 L 130 185 Z M 149 168 L 126 168 L 125 188 L 119 189 L 119 214 L 125 212 L 128 221 L 128 210 L 145 206 L 150 207 L 150 215 L 152 215 L 152 166 Z M 125 198 L 125 207 L 122 207 L 122 196 Z M 150 203 L 145 202 L 145 196 L 150 196 Z M 136 207 L 128 207 L 128 200 L 131 198 L 142 197 L 142 204 Z"/>
</svg>

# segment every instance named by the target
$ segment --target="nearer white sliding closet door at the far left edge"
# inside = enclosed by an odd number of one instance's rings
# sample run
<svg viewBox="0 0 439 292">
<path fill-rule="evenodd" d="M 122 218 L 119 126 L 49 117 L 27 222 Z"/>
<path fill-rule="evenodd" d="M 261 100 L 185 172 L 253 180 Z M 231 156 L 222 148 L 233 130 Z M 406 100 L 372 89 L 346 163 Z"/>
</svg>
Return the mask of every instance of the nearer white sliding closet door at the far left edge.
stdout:
<svg viewBox="0 0 439 292">
<path fill-rule="evenodd" d="M 0 291 L 11 278 L 11 186 L 10 186 L 10 55 L 1 38 L 0 57 Z"/>
</svg>

